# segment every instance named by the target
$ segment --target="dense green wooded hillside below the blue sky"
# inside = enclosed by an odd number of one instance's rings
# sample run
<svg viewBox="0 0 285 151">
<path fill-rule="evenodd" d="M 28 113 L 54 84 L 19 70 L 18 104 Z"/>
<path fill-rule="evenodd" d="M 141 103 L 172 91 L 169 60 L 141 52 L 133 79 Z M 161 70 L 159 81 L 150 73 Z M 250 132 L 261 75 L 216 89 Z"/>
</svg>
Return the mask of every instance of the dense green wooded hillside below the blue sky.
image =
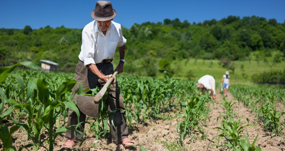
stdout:
<svg viewBox="0 0 285 151">
<path fill-rule="evenodd" d="M 0 57 L 7 64 L 28 60 L 40 65 L 40 60 L 50 60 L 59 63 L 61 69 L 74 71 L 82 29 L 49 25 L 38 30 L 29 25 L 21 30 L 2 28 Z M 134 24 L 122 30 L 127 39 L 125 60 L 129 65 L 126 70 L 136 70 L 132 62 L 140 59 L 140 65 L 148 70 L 149 76 L 158 68 L 167 68 L 172 60 L 182 58 L 226 62 L 246 60 L 252 51 L 259 51 L 259 56 L 271 56 L 272 51 L 278 51 L 278 61 L 285 54 L 285 23 L 257 16 L 228 16 L 220 21 L 212 19 L 192 24 L 187 20 L 165 19 L 163 23 Z"/>
</svg>

